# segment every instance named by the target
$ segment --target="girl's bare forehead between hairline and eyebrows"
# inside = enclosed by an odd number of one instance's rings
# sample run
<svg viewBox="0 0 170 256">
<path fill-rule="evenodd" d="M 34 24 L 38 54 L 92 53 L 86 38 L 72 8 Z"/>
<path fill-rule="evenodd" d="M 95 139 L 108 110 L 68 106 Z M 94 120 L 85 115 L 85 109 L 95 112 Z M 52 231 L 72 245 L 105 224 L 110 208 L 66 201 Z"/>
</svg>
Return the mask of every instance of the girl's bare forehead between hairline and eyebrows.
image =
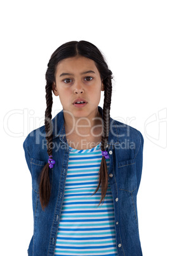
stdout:
<svg viewBox="0 0 170 256">
<path fill-rule="evenodd" d="M 81 73 L 83 71 L 93 70 L 98 73 L 95 61 L 86 57 L 70 57 L 58 62 L 56 66 L 56 75 L 60 75 L 61 72 L 65 73 Z"/>
</svg>

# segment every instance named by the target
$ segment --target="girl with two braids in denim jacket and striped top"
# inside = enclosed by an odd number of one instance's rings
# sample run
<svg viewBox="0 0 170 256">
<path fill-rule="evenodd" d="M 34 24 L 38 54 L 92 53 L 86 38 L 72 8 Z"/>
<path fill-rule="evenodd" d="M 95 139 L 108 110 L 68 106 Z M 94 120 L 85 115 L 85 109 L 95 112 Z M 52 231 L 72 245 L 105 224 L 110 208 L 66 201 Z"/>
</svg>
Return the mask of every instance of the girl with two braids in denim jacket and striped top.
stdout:
<svg viewBox="0 0 170 256">
<path fill-rule="evenodd" d="M 110 117 L 112 78 L 88 41 L 51 55 L 45 125 L 23 142 L 34 212 L 29 255 L 142 255 L 136 196 L 143 136 Z M 63 110 L 51 120 L 52 93 Z"/>
</svg>

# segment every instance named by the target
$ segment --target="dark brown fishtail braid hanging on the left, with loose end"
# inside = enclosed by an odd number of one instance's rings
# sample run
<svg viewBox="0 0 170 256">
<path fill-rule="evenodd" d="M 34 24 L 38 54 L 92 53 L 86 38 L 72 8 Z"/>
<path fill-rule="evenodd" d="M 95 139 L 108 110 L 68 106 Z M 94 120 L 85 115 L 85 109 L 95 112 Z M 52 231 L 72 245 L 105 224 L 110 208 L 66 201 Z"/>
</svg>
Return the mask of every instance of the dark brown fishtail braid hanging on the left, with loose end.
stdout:
<svg viewBox="0 0 170 256">
<path fill-rule="evenodd" d="M 51 109 L 53 105 L 53 96 L 52 96 L 52 84 L 46 83 L 46 112 L 45 112 L 45 130 L 46 130 L 46 141 L 47 141 L 47 152 L 48 155 L 52 155 L 52 142 L 53 142 L 53 130 L 51 129 Z M 51 185 L 49 180 L 49 163 L 47 163 L 42 171 L 40 176 L 39 183 L 39 196 L 41 201 L 41 207 L 44 208 L 49 202 L 49 197 L 51 194 Z"/>
</svg>

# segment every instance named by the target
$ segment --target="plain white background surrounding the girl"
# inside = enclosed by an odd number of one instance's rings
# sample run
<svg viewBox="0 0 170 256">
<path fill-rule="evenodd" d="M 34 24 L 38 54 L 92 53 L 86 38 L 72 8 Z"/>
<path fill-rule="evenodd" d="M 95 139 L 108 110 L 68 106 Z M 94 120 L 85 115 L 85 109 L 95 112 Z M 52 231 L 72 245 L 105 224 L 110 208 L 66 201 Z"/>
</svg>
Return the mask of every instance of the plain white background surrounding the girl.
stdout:
<svg viewBox="0 0 170 256">
<path fill-rule="evenodd" d="M 115 78 L 110 116 L 144 137 L 138 192 L 143 255 L 170 255 L 169 1 L 16 0 L 0 7 L 0 254 L 26 256 L 32 237 L 32 185 L 23 141 L 44 125 L 49 58 L 67 41 L 86 40 L 103 52 Z M 54 117 L 62 106 L 59 97 L 53 100 Z"/>
</svg>

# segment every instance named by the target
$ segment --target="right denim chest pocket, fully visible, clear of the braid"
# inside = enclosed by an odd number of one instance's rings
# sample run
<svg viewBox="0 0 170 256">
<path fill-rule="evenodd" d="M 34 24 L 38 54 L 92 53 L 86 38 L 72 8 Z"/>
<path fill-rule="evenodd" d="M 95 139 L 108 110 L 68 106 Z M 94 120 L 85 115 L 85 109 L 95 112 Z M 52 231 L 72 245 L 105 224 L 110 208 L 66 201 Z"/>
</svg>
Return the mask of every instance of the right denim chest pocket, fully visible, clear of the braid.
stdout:
<svg viewBox="0 0 170 256">
<path fill-rule="evenodd" d="M 136 162 L 135 159 L 118 162 L 119 189 L 132 192 L 137 188 Z"/>
</svg>

